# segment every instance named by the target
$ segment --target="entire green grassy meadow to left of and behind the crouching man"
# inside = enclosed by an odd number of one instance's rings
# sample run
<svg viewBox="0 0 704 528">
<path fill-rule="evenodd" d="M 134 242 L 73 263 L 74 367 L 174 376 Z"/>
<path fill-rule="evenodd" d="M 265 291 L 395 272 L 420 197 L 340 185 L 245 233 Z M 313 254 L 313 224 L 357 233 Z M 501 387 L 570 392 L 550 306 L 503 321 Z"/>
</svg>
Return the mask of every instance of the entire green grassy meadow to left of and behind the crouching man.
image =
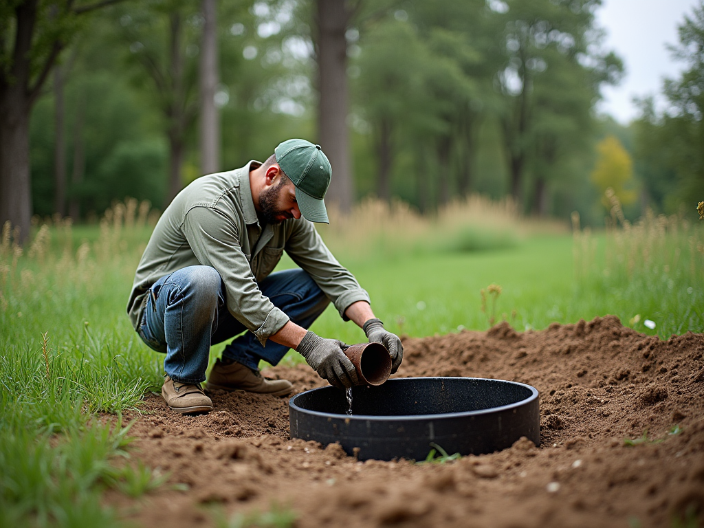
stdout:
<svg viewBox="0 0 704 528">
<path fill-rule="evenodd" d="M 701 225 L 616 219 L 604 232 L 570 233 L 488 203 L 479 218 L 474 206 L 423 220 L 367 204 L 320 231 L 398 334 L 485 330 L 502 320 L 524 331 L 607 314 L 662 339 L 704 332 Z M 163 356 L 139 341 L 125 315 L 151 232 L 136 210 L 119 205 L 95 226 L 36 225 L 23 248 L 3 232 L 0 526 L 120 525 L 100 505 L 103 491 L 139 496 L 168 477 L 131 458 L 121 420 L 145 391 L 158 390 L 163 372 Z M 291 265 L 284 258 L 279 268 Z M 348 343 L 364 337 L 332 306 L 313 331 Z M 299 360 L 293 351 L 284 359 Z"/>
</svg>

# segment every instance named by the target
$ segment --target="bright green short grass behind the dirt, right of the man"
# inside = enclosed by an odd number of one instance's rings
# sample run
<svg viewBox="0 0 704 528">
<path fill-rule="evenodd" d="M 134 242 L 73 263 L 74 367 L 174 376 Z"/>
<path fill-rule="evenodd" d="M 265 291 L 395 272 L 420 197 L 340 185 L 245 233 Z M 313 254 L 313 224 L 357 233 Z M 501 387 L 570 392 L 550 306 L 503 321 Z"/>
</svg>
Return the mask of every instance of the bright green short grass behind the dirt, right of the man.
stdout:
<svg viewBox="0 0 704 528">
<path fill-rule="evenodd" d="M 575 268 L 581 269 L 582 263 L 574 263 L 573 239 L 567 234 L 530 237 L 496 251 L 425 251 L 340 260 L 369 291 L 384 326 L 410 337 L 488 329 L 491 302 L 486 313 L 482 311 L 481 290 L 490 284 L 501 286 L 496 322 L 506 320 L 518 331 L 616 315 L 624 325 L 662 339 L 687 330 L 704 332 L 703 280 L 681 270 L 666 274 L 660 269 L 632 278 L 605 274 L 605 269 L 618 267 L 607 266 L 607 237 L 592 238 L 593 255 L 586 272 L 579 274 Z M 279 266 L 294 264 L 284 258 Z M 655 329 L 643 324 L 646 319 L 656 322 Z M 343 322 L 332 306 L 311 329 L 347 343 L 364 340 L 363 332 Z M 289 352 L 286 359 L 298 361 L 294 354 Z"/>
</svg>

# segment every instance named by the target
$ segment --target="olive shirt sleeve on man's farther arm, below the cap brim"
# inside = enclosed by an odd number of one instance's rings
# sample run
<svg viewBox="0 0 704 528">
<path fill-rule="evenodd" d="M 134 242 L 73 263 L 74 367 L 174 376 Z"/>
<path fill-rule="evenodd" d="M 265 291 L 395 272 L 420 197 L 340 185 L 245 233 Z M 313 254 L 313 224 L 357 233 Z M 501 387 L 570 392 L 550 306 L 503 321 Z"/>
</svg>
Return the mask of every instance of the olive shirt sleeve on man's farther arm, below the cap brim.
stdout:
<svg viewBox="0 0 704 528">
<path fill-rule="evenodd" d="M 308 272 L 345 321 L 345 310 L 357 301 L 370 302 L 369 294 L 360 287 L 352 273 L 330 253 L 313 224 L 301 218 L 286 243 L 286 252 L 297 265 Z"/>
</svg>

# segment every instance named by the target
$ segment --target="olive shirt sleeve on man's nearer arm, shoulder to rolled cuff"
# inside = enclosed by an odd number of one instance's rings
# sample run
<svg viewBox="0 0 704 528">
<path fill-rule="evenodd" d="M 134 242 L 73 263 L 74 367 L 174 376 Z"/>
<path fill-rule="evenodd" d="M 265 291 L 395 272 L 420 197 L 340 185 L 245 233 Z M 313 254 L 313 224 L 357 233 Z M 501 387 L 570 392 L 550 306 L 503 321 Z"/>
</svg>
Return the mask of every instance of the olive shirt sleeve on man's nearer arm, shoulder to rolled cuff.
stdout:
<svg viewBox="0 0 704 528">
<path fill-rule="evenodd" d="M 218 210 L 196 206 L 185 215 L 181 229 L 199 263 L 220 273 L 227 310 L 264 346 L 289 316 L 260 291 L 239 244 L 237 225 Z"/>
</svg>

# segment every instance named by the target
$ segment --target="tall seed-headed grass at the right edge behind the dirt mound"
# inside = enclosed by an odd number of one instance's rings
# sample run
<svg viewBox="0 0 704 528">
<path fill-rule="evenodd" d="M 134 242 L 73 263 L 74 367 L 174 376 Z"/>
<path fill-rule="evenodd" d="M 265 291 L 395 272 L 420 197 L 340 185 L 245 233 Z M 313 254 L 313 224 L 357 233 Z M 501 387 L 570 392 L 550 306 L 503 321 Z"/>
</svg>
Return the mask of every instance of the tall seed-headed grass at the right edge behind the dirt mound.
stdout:
<svg viewBox="0 0 704 528">
<path fill-rule="evenodd" d="M 704 330 L 704 225 L 648 211 L 624 218 L 615 194 L 603 254 L 597 239 L 573 215 L 574 272 L 579 303 L 608 303 L 624 324 L 667 339 Z M 654 326 L 653 326 L 654 324 Z"/>
</svg>

